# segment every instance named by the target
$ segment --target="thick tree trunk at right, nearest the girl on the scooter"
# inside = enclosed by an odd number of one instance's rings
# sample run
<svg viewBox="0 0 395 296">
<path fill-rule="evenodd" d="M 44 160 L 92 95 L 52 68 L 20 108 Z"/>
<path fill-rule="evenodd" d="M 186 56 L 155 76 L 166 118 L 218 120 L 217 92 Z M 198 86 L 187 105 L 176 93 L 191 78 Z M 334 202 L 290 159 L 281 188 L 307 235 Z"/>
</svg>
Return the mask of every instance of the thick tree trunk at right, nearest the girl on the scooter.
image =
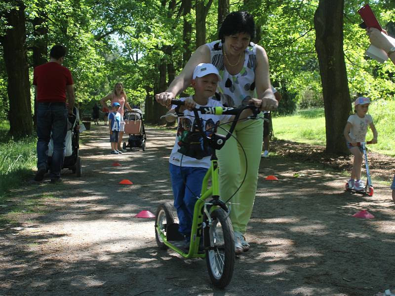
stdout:
<svg viewBox="0 0 395 296">
<path fill-rule="evenodd" d="M 351 111 L 343 52 L 344 0 L 319 0 L 314 15 L 316 51 L 325 108 L 327 153 L 349 153 L 343 130 Z"/>
</svg>

